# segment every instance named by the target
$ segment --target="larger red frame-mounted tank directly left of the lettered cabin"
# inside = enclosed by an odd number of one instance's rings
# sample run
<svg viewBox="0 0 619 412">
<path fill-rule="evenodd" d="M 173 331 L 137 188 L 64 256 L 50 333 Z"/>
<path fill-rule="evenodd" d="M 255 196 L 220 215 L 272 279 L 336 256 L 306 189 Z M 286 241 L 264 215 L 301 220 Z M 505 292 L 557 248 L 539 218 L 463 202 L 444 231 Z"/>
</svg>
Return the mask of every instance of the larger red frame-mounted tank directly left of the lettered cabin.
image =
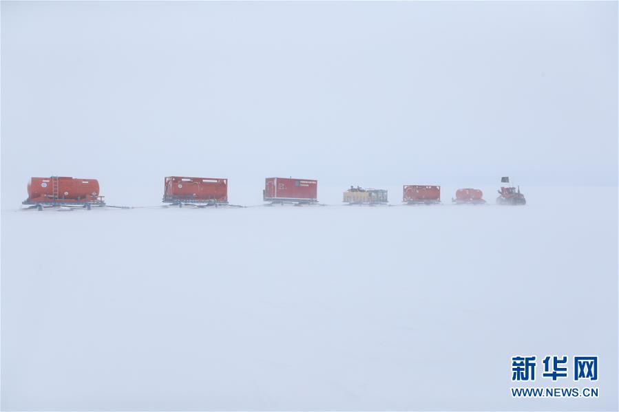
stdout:
<svg viewBox="0 0 619 412">
<path fill-rule="evenodd" d="M 163 202 L 228 202 L 228 180 L 213 177 L 168 176 Z"/>
</svg>

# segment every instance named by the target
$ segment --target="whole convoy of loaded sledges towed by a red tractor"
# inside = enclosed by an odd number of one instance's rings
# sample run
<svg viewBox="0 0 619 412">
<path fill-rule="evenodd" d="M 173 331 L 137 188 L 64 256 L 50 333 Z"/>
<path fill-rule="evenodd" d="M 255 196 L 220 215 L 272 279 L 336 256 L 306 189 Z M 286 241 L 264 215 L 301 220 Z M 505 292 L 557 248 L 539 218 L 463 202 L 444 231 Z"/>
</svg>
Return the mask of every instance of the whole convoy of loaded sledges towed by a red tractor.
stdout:
<svg viewBox="0 0 619 412">
<path fill-rule="evenodd" d="M 524 205 L 527 203 L 520 186 L 511 186 L 510 177 L 501 177 L 499 205 Z M 266 177 L 262 199 L 272 204 L 317 204 L 318 181 L 313 179 L 295 179 L 293 177 Z M 348 204 L 388 204 L 388 192 L 385 189 L 362 188 L 350 186 L 343 193 L 342 202 Z M 164 177 L 162 202 L 183 205 L 206 206 L 226 205 L 227 207 L 245 207 L 228 203 L 228 179 L 215 177 Z M 405 204 L 440 204 L 441 186 L 428 184 L 405 184 L 402 191 Z M 452 202 L 456 204 L 485 204 L 483 192 L 477 188 L 459 188 Z M 30 177 L 28 181 L 28 199 L 22 204 L 27 209 L 51 208 L 54 206 L 83 207 L 90 210 L 92 206 L 105 208 L 134 208 L 154 206 L 113 206 L 103 201 L 96 179 L 77 179 L 66 176 Z M 322 205 L 326 206 L 326 205 Z M 67 207 L 63 208 L 66 209 Z M 164 206 L 164 207 L 167 207 Z"/>
</svg>

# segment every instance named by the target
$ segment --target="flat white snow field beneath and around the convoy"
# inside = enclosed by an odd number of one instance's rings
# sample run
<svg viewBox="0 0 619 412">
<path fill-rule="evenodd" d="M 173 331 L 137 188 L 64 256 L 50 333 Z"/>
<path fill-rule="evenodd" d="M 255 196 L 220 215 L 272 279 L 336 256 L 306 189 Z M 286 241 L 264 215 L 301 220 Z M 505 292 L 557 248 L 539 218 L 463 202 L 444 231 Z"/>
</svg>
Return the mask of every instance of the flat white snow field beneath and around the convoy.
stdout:
<svg viewBox="0 0 619 412">
<path fill-rule="evenodd" d="M 341 192 L 4 208 L 3 409 L 618 408 L 617 188 L 523 188 L 524 207 Z M 513 400 L 529 354 L 600 356 L 600 398 Z"/>
</svg>

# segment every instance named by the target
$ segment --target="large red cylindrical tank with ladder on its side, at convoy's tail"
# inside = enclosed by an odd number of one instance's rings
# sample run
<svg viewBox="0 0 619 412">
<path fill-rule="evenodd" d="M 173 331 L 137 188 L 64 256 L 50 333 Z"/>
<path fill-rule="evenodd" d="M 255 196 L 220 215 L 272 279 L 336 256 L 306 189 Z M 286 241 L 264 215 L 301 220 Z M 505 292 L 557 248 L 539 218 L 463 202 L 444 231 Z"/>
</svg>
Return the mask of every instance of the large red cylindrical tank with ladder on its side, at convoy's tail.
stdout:
<svg viewBox="0 0 619 412">
<path fill-rule="evenodd" d="M 91 203 L 100 202 L 96 179 L 73 177 L 30 177 L 28 199 L 24 203 Z"/>
</svg>

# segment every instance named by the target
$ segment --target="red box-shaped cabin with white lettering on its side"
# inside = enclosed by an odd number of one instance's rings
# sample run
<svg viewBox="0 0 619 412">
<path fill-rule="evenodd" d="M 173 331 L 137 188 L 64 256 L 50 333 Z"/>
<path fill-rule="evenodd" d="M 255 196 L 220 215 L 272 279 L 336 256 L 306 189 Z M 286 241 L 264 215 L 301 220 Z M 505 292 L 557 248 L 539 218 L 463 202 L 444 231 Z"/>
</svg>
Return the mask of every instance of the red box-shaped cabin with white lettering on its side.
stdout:
<svg viewBox="0 0 619 412">
<path fill-rule="evenodd" d="M 262 198 L 273 203 L 315 203 L 317 193 L 317 180 L 267 177 Z"/>
</svg>

